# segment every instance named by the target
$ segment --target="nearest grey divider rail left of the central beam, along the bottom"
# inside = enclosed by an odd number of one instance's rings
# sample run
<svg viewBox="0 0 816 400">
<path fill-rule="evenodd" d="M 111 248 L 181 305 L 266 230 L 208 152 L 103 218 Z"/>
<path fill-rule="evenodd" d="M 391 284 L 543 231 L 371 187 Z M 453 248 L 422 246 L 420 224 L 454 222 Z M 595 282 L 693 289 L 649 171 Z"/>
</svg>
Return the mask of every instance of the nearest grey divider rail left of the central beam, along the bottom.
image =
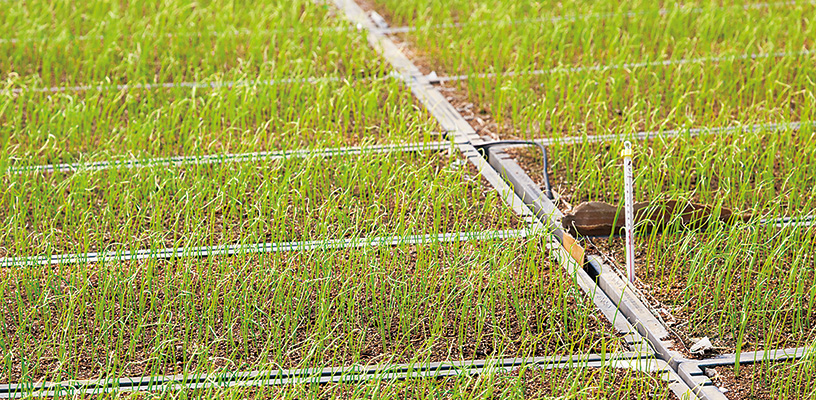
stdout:
<svg viewBox="0 0 816 400">
<path fill-rule="evenodd" d="M 587 354 L 462 360 L 415 364 L 352 365 L 335 368 L 281 369 L 252 372 L 222 371 L 210 374 L 139 376 L 63 382 L 0 385 L 0 398 L 99 395 L 110 392 L 148 392 L 296 384 L 360 383 L 372 380 L 444 378 L 458 375 L 511 372 L 521 368 L 634 368 L 667 372 L 663 364 L 639 353 Z M 670 379 L 671 377 L 666 377 Z"/>
</svg>

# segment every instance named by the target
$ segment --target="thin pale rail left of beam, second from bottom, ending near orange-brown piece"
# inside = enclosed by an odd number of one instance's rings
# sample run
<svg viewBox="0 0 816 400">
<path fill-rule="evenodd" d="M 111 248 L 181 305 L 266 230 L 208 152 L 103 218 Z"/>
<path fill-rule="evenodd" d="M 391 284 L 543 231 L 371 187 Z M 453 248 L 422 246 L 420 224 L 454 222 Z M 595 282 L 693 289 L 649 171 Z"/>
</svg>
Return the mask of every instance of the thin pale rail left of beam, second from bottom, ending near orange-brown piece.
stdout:
<svg viewBox="0 0 816 400">
<path fill-rule="evenodd" d="M 299 242 L 270 242 L 255 244 L 214 245 L 197 247 L 169 247 L 135 251 L 102 251 L 90 253 L 57 254 L 52 256 L 4 257 L 0 268 L 31 267 L 59 264 L 105 263 L 147 259 L 174 259 L 188 257 L 232 256 L 240 254 L 275 253 L 285 251 L 328 250 L 374 246 L 483 241 L 524 238 L 537 234 L 538 226 L 526 229 L 485 230 L 411 236 L 375 236 L 352 239 L 325 239 Z"/>
</svg>

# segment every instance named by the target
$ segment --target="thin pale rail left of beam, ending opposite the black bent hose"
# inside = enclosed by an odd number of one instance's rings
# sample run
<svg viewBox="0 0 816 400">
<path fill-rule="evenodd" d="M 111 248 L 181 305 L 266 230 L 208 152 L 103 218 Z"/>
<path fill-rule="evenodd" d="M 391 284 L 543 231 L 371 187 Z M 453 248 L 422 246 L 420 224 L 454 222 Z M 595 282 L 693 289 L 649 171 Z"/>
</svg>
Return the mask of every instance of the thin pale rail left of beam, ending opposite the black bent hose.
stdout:
<svg viewBox="0 0 816 400">
<path fill-rule="evenodd" d="M 432 135 L 438 135 L 432 133 Z M 43 164 L 32 166 L 12 167 L 8 169 L 10 174 L 21 174 L 30 172 L 74 172 L 79 170 L 99 171 L 109 168 L 145 168 L 157 166 L 183 166 L 201 164 L 220 164 L 228 162 L 257 162 L 263 160 L 280 160 L 288 158 L 307 157 L 336 157 L 375 153 L 396 153 L 396 152 L 419 152 L 419 151 L 442 151 L 451 148 L 450 142 L 427 142 L 427 143 L 407 143 L 375 146 L 352 146 L 352 147 L 329 147 L 290 151 L 263 151 L 255 153 L 235 153 L 235 154 L 208 154 L 202 156 L 176 156 L 159 157 L 131 160 L 113 160 L 97 162 L 76 162 L 63 164 Z"/>
</svg>

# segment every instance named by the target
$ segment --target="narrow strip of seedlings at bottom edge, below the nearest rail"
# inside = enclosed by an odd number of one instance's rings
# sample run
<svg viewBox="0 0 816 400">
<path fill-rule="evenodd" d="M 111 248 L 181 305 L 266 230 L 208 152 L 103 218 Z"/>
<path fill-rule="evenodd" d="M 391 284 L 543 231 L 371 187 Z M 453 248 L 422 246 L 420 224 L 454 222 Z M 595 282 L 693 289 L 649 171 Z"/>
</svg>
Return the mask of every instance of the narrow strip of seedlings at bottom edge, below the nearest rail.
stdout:
<svg viewBox="0 0 816 400">
<path fill-rule="evenodd" d="M 639 396 L 638 396 L 639 395 Z M 286 387 L 228 388 L 104 396 L 105 398 L 219 398 L 219 399 L 526 399 L 581 398 L 624 400 L 632 398 L 677 399 L 656 374 L 616 368 L 516 370 L 503 374 L 439 379 L 376 381 L 368 384 L 298 385 Z M 635 396 L 635 397 L 633 397 Z M 78 396 L 77 399 L 90 397 Z"/>
</svg>

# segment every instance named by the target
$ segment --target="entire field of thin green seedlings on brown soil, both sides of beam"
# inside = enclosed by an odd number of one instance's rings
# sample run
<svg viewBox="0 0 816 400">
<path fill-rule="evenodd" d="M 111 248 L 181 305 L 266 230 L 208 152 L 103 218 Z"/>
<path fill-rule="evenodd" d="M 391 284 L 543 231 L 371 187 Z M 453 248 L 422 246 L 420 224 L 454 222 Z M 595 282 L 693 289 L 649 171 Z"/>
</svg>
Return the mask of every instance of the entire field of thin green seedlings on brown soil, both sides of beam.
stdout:
<svg viewBox="0 0 816 400">
<path fill-rule="evenodd" d="M 94 398 L 816 396 L 812 354 L 701 377 L 678 367 L 816 345 L 816 228 L 763 223 L 812 215 L 816 202 L 814 2 L 362 0 L 368 19 L 350 24 L 345 1 L 6 4 L 0 398 L 18 383 L 530 356 L 603 361 Z M 424 76 L 405 76 L 393 54 L 371 45 L 389 40 Z M 537 228 L 531 209 L 550 202 L 496 183 L 506 152 L 505 162 L 543 185 L 538 149 L 470 153 L 463 130 L 441 128 L 446 108 L 429 104 L 433 92 L 486 141 L 703 130 L 633 143 L 636 200 L 751 216 L 638 235 L 631 289 L 669 332 L 672 356 L 640 316 L 621 321 L 631 311 L 590 269 L 570 269 L 553 244 L 559 227 L 430 239 Z M 722 127 L 744 129 L 706 132 Z M 576 140 L 547 146 L 554 207 L 619 204 L 623 141 Z M 450 146 L 321 154 L 440 141 Z M 313 154 L 148 165 L 301 150 Z M 63 163 L 76 165 L 49 170 Z M 206 257 L 48 258 L 416 235 L 430 236 Z M 621 238 L 578 240 L 587 255 L 625 269 Z M 45 261 L 10 262 L 37 256 Z M 701 337 L 713 348 L 692 353 Z M 635 347 L 638 338 L 649 349 Z M 614 368 L 612 356 L 666 367 Z M 712 394 L 694 379 L 728 390 Z"/>
</svg>

